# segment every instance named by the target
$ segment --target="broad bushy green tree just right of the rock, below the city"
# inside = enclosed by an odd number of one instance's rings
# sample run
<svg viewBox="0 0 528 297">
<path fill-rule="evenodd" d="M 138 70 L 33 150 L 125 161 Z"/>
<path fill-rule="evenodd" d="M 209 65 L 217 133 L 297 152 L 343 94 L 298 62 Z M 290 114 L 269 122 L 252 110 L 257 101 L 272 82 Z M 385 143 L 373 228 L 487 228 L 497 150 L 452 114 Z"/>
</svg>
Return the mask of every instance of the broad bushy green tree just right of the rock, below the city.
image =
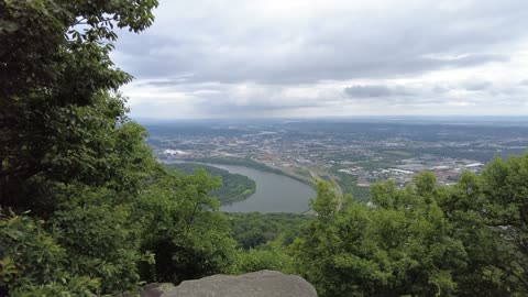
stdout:
<svg viewBox="0 0 528 297">
<path fill-rule="evenodd" d="M 371 194 L 373 207 L 350 201 L 332 213 L 337 194 L 320 184 L 312 205 L 323 216 L 315 209 L 294 243 L 298 272 L 321 296 L 455 295 L 452 273 L 466 254 L 436 201 L 392 182 Z"/>
</svg>

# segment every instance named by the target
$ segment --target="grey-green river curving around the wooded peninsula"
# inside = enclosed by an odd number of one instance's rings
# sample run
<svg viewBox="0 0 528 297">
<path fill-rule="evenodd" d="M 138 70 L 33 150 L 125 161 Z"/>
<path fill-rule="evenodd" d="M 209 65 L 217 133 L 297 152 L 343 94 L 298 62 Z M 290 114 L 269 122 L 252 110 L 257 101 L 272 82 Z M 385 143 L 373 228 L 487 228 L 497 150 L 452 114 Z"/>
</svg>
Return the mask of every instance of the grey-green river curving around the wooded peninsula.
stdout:
<svg viewBox="0 0 528 297">
<path fill-rule="evenodd" d="M 244 166 L 207 164 L 255 180 L 255 193 L 248 199 L 222 206 L 226 212 L 293 212 L 308 210 L 308 201 L 316 197 L 314 189 L 287 176 Z"/>
</svg>

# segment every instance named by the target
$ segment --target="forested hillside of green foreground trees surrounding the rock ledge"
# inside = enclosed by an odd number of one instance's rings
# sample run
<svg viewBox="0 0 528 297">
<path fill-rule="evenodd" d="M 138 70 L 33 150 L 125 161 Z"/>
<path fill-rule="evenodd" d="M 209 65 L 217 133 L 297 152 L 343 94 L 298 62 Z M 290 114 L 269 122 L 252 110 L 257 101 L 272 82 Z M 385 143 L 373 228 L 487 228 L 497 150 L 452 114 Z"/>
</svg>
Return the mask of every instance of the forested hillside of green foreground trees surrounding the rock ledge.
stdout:
<svg viewBox="0 0 528 297">
<path fill-rule="evenodd" d="M 0 2 L 0 296 L 263 268 L 320 296 L 528 295 L 528 154 L 451 187 L 387 180 L 370 205 L 318 182 L 311 218 L 220 212 L 218 178 L 158 164 L 119 92 L 114 30 L 145 30 L 156 6 Z"/>
</svg>

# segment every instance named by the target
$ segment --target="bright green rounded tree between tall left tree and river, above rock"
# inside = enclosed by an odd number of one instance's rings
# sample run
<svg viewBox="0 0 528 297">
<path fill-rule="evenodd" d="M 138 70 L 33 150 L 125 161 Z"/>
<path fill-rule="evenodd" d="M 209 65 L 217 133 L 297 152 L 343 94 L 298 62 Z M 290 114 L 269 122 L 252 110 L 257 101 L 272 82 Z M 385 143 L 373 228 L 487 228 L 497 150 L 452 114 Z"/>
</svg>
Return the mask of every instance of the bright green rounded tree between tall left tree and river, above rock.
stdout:
<svg viewBox="0 0 528 297">
<path fill-rule="evenodd" d="M 205 170 L 166 176 L 136 201 L 138 221 L 144 227 L 142 249 L 156 260 L 144 267 L 146 279 L 179 283 L 228 270 L 234 241 L 218 201 L 208 195 L 218 186 Z"/>
</svg>

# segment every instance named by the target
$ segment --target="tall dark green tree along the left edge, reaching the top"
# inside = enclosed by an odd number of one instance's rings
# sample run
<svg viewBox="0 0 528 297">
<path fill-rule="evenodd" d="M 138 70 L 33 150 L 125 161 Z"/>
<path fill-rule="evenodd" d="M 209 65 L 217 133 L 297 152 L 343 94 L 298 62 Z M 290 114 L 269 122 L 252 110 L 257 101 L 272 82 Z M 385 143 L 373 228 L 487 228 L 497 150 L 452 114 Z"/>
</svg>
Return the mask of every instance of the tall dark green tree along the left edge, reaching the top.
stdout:
<svg viewBox="0 0 528 297">
<path fill-rule="evenodd" d="M 140 280 L 136 266 L 147 258 L 132 240 L 141 230 L 131 223 L 130 204 L 157 166 L 145 131 L 127 119 L 117 91 L 131 76 L 113 66 L 109 53 L 114 28 L 146 29 L 156 6 L 156 0 L 0 2 L 0 207 L 31 210 L 14 217 L 20 232 L 46 234 L 35 241 L 55 246 L 57 258 L 48 265 L 52 273 L 35 278 L 40 264 L 26 263 L 24 254 L 37 243 L 25 244 L 31 235 L 12 237 L 4 251 L 18 252 L 2 261 L 15 263 L 19 273 L 2 290 L 78 294 L 86 283 L 87 292 L 113 293 Z"/>
</svg>

